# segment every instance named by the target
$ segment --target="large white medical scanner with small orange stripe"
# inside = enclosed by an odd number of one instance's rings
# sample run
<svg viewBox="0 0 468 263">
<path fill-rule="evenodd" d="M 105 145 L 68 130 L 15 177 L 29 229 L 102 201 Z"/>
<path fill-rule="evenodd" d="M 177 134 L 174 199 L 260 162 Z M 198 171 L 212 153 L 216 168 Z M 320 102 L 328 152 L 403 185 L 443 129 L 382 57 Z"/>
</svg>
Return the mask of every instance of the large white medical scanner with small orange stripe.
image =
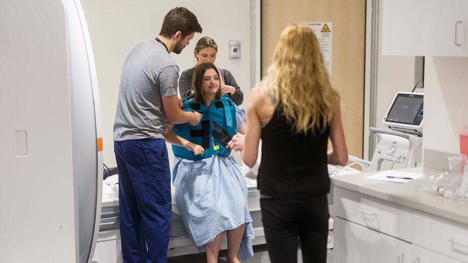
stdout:
<svg viewBox="0 0 468 263">
<path fill-rule="evenodd" d="M 81 4 L 1 0 L 0 35 L 0 262 L 89 263 L 102 137 Z"/>
</svg>

